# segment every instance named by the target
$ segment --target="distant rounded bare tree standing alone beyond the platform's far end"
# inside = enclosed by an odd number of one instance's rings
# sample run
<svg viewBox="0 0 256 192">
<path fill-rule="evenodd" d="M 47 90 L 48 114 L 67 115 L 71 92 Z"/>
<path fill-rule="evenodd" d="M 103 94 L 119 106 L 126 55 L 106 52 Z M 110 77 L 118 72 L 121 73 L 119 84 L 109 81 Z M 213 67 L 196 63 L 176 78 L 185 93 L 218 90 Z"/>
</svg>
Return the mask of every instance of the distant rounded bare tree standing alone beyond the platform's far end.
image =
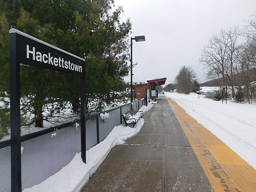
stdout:
<svg viewBox="0 0 256 192">
<path fill-rule="evenodd" d="M 178 75 L 175 77 L 179 92 L 189 94 L 192 91 L 196 77 L 195 70 L 191 66 L 181 66 Z"/>
</svg>

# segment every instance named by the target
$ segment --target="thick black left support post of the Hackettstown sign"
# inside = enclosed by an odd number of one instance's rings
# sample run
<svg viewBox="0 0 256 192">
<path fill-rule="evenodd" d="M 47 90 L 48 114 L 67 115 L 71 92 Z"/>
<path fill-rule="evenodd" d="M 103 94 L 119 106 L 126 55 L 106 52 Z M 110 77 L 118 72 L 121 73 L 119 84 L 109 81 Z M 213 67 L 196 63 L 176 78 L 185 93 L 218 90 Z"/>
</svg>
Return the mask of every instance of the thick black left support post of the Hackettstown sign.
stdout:
<svg viewBox="0 0 256 192">
<path fill-rule="evenodd" d="M 21 192 L 20 146 L 20 63 L 17 61 L 16 34 L 9 36 L 11 106 L 11 190 Z"/>
</svg>

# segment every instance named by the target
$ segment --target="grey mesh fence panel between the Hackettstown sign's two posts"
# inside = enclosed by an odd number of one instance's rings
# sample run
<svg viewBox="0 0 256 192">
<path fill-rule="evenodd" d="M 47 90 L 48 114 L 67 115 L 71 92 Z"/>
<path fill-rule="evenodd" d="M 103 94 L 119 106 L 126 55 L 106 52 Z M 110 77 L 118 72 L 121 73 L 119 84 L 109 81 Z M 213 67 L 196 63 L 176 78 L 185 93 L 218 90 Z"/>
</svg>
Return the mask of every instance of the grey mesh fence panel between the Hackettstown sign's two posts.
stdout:
<svg viewBox="0 0 256 192">
<path fill-rule="evenodd" d="M 22 190 L 54 175 L 81 151 L 80 126 L 69 126 L 21 143 Z"/>
</svg>

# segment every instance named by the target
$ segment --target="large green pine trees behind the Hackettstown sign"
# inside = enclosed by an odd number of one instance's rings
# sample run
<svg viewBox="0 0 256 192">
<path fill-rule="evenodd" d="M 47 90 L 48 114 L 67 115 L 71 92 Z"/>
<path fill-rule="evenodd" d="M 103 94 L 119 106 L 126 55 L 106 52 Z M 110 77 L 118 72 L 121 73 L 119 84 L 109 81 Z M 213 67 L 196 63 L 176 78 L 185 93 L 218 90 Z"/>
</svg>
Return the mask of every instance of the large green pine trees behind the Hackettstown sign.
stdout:
<svg viewBox="0 0 256 192">
<path fill-rule="evenodd" d="M 15 28 L 85 58 L 87 115 L 101 111 L 123 90 L 129 67 L 130 20 L 113 0 L 5 0 L 0 3 L 0 138 L 9 129 L 9 29 Z M 80 79 L 20 66 L 22 126 L 44 127 L 66 111 L 79 116 Z M 31 115 L 32 114 L 32 115 Z M 57 120 L 58 121 L 58 120 Z"/>
</svg>

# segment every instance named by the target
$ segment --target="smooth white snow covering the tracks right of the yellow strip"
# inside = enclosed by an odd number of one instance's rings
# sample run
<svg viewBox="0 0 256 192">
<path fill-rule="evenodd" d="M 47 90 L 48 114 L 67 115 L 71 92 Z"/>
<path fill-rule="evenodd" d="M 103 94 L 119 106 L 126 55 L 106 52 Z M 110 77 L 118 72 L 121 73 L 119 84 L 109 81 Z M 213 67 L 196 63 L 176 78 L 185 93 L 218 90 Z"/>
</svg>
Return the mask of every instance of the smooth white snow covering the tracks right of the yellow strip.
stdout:
<svg viewBox="0 0 256 192">
<path fill-rule="evenodd" d="M 256 105 L 198 99 L 193 93 L 166 96 L 256 169 Z"/>
</svg>

